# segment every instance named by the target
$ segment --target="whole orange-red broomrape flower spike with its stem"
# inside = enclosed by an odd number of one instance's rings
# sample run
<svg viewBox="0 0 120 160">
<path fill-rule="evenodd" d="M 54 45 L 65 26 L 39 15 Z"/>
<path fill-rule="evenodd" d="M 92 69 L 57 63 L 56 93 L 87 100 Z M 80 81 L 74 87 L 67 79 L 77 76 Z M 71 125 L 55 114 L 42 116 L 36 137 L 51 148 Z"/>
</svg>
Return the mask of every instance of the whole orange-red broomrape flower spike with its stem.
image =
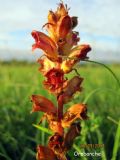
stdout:
<svg viewBox="0 0 120 160">
<path fill-rule="evenodd" d="M 48 35 L 32 31 L 35 43 L 32 50 L 41 49 L 44 57 L 40 57 L 39 71 L 44 76 L 43 85 L 54 94 L 57 104 L 41 95 L 32 95 L 32 112 L 43 112 L 39 124 L 46 119 L 53 135 L 47 146 L 37 147 L 37 160 L 70 160 L 67 151 L 71 149 L 74 139 L 80 135 L 80 121 L 86 120 L 87 105 L 78 102 L 66 109 L 64 104 L 71 101 L 76 92 L 82 92 L 83 78 L 75 65 L 85 60 L 91 50 L 88 44 L 78 45 L 79 33 L 73 31 L 77 26 L 77 17 L 71 17 L 67 5 L 60 3 L 56 11 L 50 10 L 48 21 L 43 27 Z M 66 78 L 65 75 L 75 70 L 77 75 Z M 48 93 L 49 93 L 48 92 Z M 68 131 L 64 132 L 64 129 Z"/>
</svg>

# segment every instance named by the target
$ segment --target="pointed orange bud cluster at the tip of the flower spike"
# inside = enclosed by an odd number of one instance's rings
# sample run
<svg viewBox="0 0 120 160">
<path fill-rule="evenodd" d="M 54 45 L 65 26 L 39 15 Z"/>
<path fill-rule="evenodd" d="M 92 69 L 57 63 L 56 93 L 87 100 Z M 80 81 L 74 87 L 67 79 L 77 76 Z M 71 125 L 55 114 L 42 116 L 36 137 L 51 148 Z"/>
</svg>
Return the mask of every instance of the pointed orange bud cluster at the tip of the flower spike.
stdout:
<svg viewBox="0 0 120 160">
<path fill-rule="evenodd" d="M 68 9 L 62 3 L 56 12 L 49 11 L 48 22 L 46 23 L 49 36 L 57 43 L 60 38 L 64 40 L 72 28 L 72 21 L 68 15 Z"/>
</svg>

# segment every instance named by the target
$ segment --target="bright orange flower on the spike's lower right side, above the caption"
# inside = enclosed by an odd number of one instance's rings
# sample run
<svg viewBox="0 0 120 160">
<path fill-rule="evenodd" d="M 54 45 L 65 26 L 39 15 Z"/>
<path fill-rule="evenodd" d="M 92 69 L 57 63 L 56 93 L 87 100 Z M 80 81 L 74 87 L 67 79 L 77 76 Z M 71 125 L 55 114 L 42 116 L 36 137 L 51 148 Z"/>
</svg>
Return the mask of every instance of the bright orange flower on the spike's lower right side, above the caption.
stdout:
<svg viewBox="0 0 120 160">
<path fill-rule="evenodd" d="M 77 119 L 87 119 L 87 107 L 85 104 L 75 104 L 64 114 L 62 126 L 69 127 Z"/>
</svg>

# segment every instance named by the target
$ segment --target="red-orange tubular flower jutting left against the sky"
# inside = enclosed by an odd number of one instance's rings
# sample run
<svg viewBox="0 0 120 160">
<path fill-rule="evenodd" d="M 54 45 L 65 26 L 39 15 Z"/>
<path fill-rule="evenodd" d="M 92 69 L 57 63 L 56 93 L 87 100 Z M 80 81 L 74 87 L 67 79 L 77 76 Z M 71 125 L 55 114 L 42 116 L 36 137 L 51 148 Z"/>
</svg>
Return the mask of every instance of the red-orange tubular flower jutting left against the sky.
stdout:
<svg viewBox="0 0 120 160">
<path fill-rule="evenodd" d="M 31 34 L 35 39 L 35 44 L 32 46 L 32 49 L 42 49 L 47 57 L 56 60 L 57 47 L 54 41 L 50 37 L 39 31 L 33 31 Z"/>
</svg>

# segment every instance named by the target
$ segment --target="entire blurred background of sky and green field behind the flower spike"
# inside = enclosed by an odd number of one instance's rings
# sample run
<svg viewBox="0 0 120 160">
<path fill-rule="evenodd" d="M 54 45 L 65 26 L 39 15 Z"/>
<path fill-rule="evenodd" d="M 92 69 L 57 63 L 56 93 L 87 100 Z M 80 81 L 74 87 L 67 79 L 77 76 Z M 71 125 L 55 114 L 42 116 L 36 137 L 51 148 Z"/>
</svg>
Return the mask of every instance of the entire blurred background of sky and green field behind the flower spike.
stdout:
<svg viewBox="0 0 120 160">
<path fill-rule="evenodd" d="M 49 10 L 56 10 L 57 0 L 0 0 L 0 160 L 34 160 L 36 146 L 46 145 L 48 133 L 36 129 L 42 113 L 30 114 L 30 96 L 41 94 L 56 104 L 55 97 L 43 87 L 43 77 L 35 62 L 41 50 L 32 53 L 32 30 L 45 32 Z M 81 136 L 68 153 L 101 153 L 101 160 L 120 160 L 120 1 L 64 0 L 70 15 L 78 16 L 80 43 L 88 43 L 90 60 L 103 66 L 84 63 L 78 72 L 84 78 L 84 90 L 72 102 L 88 106 L 89 120 L 82 123 Z M 73 77 L 71 73 L 68 78 Z M 116 76 L 116 77 L 115 77 Z M 116 80 L 117 79 L 117 80 Z M 43 122 L 44 127 L 47 123 Z M 104 144 L 98 149 L 84 149 L 82 144 Z M 91 160 L 91 157 L 76 157 Z M 98 157 L 92 157 L 97 160 Z"/>
</svg>

